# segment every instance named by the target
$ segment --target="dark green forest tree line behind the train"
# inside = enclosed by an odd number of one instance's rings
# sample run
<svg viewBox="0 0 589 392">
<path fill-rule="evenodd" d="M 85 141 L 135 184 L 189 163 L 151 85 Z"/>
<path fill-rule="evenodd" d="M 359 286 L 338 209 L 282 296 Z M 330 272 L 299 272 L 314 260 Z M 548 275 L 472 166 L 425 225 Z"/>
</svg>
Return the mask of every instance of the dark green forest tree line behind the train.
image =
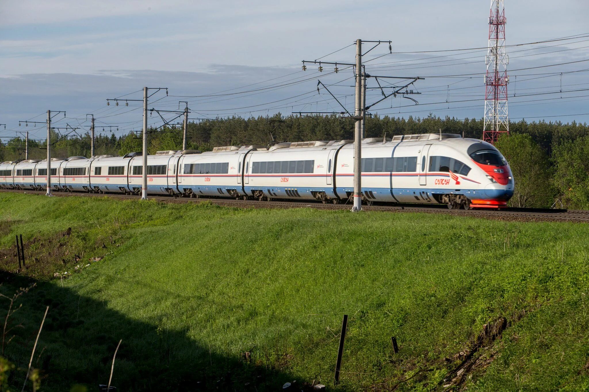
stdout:
<svg viewBox="0 0 589 392">
<path fill-rule="evenodd" d="M 481 139 L 482 119 L 395 118 L 373 116 L 366 119 L 366 137 L 384 138 L 413 133 L 458 133 Z M 515 177 L 515 207 L 563 207 L 589 209 L 589 125 L 562 122 L 510 122 L 510 135 L 503 135 L 497 148 L 508 159 Z M 98 128 L 100 129 L 100 128 Z M 191 122 L 187 129 L 187 148 L 209 151 L 215 146 L 262 145 L 272 142 L 353 139 L 353 120 L 339 116 L 259 116 Z M 148 132 L 148 152 L 178 150 L 182 130 L 164 128 Z M 141 151 L 141 135 L 130 132 L 115 136 L 99 133 L 95 155 L 124 155 Z M 29 141 L 29 158 L 45 158 L 46 143 Z M 90 135 L 63 138 L 52 131 L 53 156 L 90 156 Z M 24 140 L 0 140 L 0 161 L 24 158 Z"/>
</svg>

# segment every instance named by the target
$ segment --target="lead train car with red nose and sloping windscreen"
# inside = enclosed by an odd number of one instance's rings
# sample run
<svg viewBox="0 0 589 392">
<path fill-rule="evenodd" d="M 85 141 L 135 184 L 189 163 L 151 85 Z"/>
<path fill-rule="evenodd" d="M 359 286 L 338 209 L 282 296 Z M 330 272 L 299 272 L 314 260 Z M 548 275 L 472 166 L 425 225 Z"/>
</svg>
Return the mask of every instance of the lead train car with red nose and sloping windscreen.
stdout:
<svg viewBox="0 0 589 392">
<path fill-rule="evenodd" d="M 362 142 L 362 199 L 445 204 L 449 208 L 505 207 L 514 180 L 489 143 L 460 135 L 425 133 Z M 353 192 L 353 146 L 337 159 L 336 193 Z"/>
</svg>

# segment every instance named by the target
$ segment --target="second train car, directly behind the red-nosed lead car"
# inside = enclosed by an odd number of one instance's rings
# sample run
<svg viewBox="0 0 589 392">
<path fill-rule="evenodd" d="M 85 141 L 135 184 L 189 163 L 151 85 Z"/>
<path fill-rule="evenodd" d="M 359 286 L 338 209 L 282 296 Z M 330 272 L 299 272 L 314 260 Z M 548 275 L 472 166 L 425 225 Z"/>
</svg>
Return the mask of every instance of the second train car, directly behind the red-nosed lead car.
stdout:
<svg viewBox="0 0 589 392">
<path fill-rule="evenodd" d="M 258 199 L 308 199 L 337 202 L 337 153 L 352 140 L 278 143 L 246 157 L 244 193 Z"/>
</svg>

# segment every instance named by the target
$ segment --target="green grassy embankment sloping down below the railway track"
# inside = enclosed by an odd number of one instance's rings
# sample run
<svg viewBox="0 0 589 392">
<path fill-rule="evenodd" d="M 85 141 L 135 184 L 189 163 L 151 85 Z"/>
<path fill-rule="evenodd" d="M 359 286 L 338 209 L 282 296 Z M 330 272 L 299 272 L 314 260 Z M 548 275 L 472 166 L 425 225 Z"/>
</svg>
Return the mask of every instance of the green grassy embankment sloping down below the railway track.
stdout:
<svg viewBox="0 0 589 392">
<path fill-rule="evenodd" d="M 37 261 L 15 273 L 9 248 L 21 233 Z M 44 391 L 106 384 L 120 339 L 112 384 L 124 391 L 274 391 L 293 380 L 332 391 L 585 390 L 588 234 L 583 223 L 0 193 L 0 291 L 37 283 L 19 297 L 12 323 L 24 328 L 5 356 L 26 370 L 48 305 L 33 364 Z M 507 328 L 481 335 L 499 317 Z M 20 388 L 22 369 L 11 377 Z"/>
</svg>

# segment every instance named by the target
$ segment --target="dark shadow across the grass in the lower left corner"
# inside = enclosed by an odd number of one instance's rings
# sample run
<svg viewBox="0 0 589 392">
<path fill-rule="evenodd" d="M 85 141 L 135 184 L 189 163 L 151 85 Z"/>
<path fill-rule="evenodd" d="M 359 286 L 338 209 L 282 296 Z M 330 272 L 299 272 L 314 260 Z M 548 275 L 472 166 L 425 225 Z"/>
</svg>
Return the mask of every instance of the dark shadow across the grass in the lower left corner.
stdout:
<svg viewBox="0 0 589 392">
<path fill-rule="evenodd" d="M 21 368 L 12 373 L 9 384 L 14 386 L 21 386 L 24 380 L 45 306 L 49 312 L 32 365 L 44 376 L 44 391 L 69 391 L 74 384 L 98 391 L 98 384 L 108 383 L 112 354 L 120 339 L 123 343 L 112 378 L 119 391 L 275 391 L 297 379 L 279 370 L 280 361 L 266 354 L 244 351 L 242 356 L 227 356 L 214 347 L 200 346 L 186 331 L 161 329 L 157 321 L 129 319 L 108 309 L 107 301 L 79 296 L 59 284 L 7 272 L 0 272 L 0 283 L 7 296 L 19 287 L 36 284 L 19 297 L 16 306 L 22 303 L 22 308 L 11 317 L 12 326 L 23 327 L 6 336 L 8 340 L 15 334 L 5 356 Z M 8 301 L 0 306 L 0 321 L 4 321 Z"/>
</svg>

